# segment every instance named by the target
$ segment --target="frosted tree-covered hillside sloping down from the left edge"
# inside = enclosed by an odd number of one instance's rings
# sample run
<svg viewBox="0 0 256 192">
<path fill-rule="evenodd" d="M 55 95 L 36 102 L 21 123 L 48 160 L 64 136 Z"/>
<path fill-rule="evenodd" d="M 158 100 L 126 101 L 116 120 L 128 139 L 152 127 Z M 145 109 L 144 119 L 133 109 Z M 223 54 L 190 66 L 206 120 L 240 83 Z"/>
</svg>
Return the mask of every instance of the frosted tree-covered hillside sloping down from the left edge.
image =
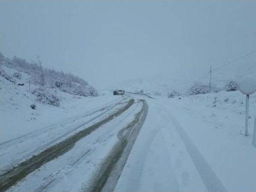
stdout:
<svg viewBox="0 0 256 192">
<path fill-rule="evenodd" d="M 37 57 L 35 61 L 28 62 L 25 59 L 14 56 L 12 59 L 5 57 L 0 53 L 0 75 L 16 83 L 20 79 L 20 72 L 26 74 L 24 82 L 39 86 L 42 88 L 57 88 L 62 92 L 78 96 L 97 96 L 95 88 L 90 86 L 84 79 L 74 76 L 71 73 L 58 72 L 53 69 L 44 68 L 42 60 Z M 4 68 L 14 69 L 15 74 L 6 73 Z"/>
</svg>

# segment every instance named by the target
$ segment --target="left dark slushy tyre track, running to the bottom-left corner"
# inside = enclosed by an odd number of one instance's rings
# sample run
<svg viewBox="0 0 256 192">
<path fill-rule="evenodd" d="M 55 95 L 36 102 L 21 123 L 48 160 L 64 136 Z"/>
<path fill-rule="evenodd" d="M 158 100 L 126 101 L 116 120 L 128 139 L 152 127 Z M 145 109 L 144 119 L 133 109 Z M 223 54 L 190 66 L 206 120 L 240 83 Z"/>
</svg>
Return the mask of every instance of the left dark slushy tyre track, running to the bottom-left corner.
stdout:
<svg viewBox="0 0 256 192">
<path fill-rule="evenodd" d="M 80 132 L 63 140 L 62 142 L 54 146 L 51 146 L 50 148 L 47 148 L 46 150 L 42 151 L 40 154 L 32 156 L 32 158 L 29 158 L 28 160 L 18 164 L 16 167 L 6 171 L 4 174 L 0 175 L 0 190 L 1 191 L 7 190 L 10 186 L 16 184 L 16 182 L 18 182 L 19 180 L 21 180 L 22 178 L 24 178 L 29 173 L 33 172 L 43 164 L 66 153 L 68 150 L 70 150 L 74 146 L 74 144 L 77 141 L 89 135 L 90 133 L 98 129 L 103 124 L 106 124 L 107 122 L 111 121 L 116 116 L 119 116 L 120 114 L 122 114 L 124 111 L 130 108 L 132 104 L 134 104 L 134 100 L 129 100 L 126 106 L 122 107 L 117 112 L 110 114 L 110 116 L 108 116 L 107 118 L 101 120 L 100 122 L 97 122 L 96 124 L 84 130 L 81 130 Z"/>
</svg>

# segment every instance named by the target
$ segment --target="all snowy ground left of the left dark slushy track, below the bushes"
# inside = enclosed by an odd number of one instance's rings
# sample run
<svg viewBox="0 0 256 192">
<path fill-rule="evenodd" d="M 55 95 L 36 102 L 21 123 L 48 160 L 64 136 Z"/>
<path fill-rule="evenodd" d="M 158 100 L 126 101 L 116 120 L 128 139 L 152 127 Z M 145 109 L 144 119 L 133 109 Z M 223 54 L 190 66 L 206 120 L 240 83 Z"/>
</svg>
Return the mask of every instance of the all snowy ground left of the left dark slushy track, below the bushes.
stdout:
<svg viewBox="0 0 256 192">
<path fill-rule="evenodd" d="M 16 72 L 7 67 L 4 70 L 8 74 Z M 29 92 L 26 74 L 20 73 L 22 78 L 19 81 L 25 82 L 24 86 L 0 76 L 1 173 L 78 132 L 85 125 L 94 124 L 104 118 L 106 112 L 120 107 L 115 104 L 123 100 L 109 95 L 77 97 L 56 90 L 62 98 L 60 107 L 42 104 L 36 102 L 36 97 Z M 35 110 L 30 108 L 31 104 L 36 104 Z"/>
</svg>

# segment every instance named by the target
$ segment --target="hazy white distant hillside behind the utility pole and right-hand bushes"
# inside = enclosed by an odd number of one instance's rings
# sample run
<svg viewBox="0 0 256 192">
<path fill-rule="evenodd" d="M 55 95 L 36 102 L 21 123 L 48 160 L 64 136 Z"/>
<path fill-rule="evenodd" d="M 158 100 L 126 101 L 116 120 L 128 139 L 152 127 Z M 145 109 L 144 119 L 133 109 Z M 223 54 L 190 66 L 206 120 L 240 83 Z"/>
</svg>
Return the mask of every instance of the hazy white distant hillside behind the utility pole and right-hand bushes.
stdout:
<svg viewBox="0 0 256 192">
<path fill-rule="evenodd" d="M 214 70 L 211 83 L 213 87 L 223 89 L 230 80 L 238 81 L 246 74 L 256 76 L 256 56 L 254 55 Z M 124 89 L 131 92 L 143 90 L 144 93 L 150 95 L 161 94 L 162 96 L 167 96 L 173 90 L 186 94 L 189 87 L 195 83 L 208 86 L 209 80 L 210 73 L 207 74 L 207 72 L 205 75 L 200 74 L 199 76 L 188 77 L 187 79 L 175 79 L 171 76 L 150 76 L 118 82 L 108 88 Z"/>
</svg>

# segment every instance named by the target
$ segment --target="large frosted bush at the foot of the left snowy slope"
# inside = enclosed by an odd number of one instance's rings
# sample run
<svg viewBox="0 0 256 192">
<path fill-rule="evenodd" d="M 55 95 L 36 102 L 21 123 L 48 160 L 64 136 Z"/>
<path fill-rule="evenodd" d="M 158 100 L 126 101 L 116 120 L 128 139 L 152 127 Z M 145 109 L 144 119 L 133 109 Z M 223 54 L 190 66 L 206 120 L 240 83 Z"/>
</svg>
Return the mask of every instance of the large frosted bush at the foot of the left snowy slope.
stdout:
<svg viewBox="0 0 256 192">
<path fill-rule="evenodd" d="M 36 96 L 36 100 L 38 102 L 54 105 L 56 107 L 60 106 L 60 98 L 56 94 L 49 92 L 45 88 L 36 88 L 32 91 L 32 94 Z"/>
</svg>

